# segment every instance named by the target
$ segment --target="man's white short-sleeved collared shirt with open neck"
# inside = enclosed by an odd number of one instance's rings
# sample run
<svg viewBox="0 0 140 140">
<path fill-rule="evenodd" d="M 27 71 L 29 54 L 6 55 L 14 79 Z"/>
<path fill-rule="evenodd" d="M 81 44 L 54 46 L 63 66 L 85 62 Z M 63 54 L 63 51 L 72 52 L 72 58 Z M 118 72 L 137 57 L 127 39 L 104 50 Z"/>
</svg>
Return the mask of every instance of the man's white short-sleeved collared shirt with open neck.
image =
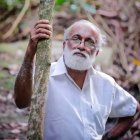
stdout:
<svg viewBox="0 0 140 140">
<path fill-rule="evenodd" d="M 108 117 L 132 116 L 136 107 L 113 78 L 92 67 L 80 89 L 61 57 L 50 69 L 44 139 L 101 140 Z"/>
</svg>

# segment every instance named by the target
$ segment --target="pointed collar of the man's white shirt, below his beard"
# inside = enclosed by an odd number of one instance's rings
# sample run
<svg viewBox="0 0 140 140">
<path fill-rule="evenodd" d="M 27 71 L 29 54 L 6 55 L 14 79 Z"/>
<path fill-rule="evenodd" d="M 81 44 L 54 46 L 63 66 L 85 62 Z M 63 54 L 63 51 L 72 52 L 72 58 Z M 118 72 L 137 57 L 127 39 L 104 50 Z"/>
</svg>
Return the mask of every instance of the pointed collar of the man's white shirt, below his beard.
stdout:
<svg viewBox="0 0 140 140">
<path fill-rule="evenodd" d="M 67 73 L 67 69 L 64 63 L 63 56 L 61 56 L 59 60 L 56 62 L 56 66 L 54 68 L 54 71 L 51 73 L 51 76 L 57 76 L 66 73 Z M 96 74 L 96 70 L 93 67 L 90 67 L 90 69 L 88 70 L 88 75 L 93 76 L 95 74 Z"/>
</svg>

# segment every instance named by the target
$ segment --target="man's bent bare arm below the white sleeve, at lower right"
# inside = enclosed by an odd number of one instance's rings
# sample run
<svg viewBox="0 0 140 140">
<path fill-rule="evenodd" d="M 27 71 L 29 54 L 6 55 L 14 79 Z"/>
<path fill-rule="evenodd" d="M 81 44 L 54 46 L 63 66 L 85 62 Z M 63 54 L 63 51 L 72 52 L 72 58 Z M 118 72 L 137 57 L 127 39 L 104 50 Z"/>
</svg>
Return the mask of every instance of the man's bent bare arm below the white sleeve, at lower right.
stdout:
<svg viewBox="0 0 140 140">
<path fill-rule="evenodd" d="M 123 136 L 133 124 L 140 117 L 140 104 L 137 105 L 137 110 L 134 116 L 131 117 L 122 117 L 119 118 L 118 122 L 111 128 L 105 135 L 102 140 L 117 140 L 119 137 Z M 137 124 L 139 126 L 139 124 Z"/>
</svg>

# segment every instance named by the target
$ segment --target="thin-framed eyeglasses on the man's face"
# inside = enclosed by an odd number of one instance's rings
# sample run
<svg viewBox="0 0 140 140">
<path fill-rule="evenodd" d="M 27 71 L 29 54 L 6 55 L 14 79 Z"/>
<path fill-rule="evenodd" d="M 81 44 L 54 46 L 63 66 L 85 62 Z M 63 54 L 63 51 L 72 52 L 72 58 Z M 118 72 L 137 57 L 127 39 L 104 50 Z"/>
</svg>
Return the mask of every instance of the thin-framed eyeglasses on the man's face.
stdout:
<svg viewBox="0 0 140 140">
<path fill-rule="evenodd" d="M 73 35 L 71 38 L 67 38 L 73 45 L 80 45 L 82 43 L 82 37 L 80 35 Z M 84 46 L 90 49 L 96 49 L 95 41 L 91 38 L 86 38 L 84 40 Z"/>
</svg>

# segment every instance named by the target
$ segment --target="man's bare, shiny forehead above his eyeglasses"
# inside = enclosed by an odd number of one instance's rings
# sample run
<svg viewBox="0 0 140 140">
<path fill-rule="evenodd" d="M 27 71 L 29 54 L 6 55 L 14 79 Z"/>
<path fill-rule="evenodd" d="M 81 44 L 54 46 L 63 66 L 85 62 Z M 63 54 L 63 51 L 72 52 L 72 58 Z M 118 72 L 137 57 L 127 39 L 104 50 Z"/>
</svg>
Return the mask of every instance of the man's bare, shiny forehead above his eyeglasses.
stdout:
<svg viewBox="0 0 140 140">
<path fill-rule="evenodd" d="M 94 38 L 97 39 L 98 38 L 98 31 L 97 29 L 92 26 L 90 23 L 75 23 L 69 32 L 69 37 L 72 37 L 75 34 L 79 34 L 81 35 L 83 38 Z"/>
</svg>

